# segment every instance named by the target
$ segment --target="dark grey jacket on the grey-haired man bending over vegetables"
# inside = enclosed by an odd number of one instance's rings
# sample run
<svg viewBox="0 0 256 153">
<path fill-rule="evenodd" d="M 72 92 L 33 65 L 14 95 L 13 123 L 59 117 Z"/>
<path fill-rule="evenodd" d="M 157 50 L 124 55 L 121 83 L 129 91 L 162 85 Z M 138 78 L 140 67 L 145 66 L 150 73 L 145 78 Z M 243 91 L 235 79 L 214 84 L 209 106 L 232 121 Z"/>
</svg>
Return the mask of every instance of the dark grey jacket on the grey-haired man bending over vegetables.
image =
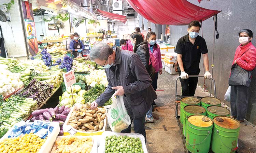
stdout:
<svg viewBox="0 0 256 153">
<path fill-rule="evenodd" d="M 109 84 L 97 98 L 97 104 L 102 106 L 112 97 L 115 90 L 111 87 L 123 86 L 124 104 L 129 116 L 134 119 L 145 115 L 157 96 L 150 75 L 138 55 L 117 48 L 115 66 L 105 69 L 105 72 Z"/>
</svg>

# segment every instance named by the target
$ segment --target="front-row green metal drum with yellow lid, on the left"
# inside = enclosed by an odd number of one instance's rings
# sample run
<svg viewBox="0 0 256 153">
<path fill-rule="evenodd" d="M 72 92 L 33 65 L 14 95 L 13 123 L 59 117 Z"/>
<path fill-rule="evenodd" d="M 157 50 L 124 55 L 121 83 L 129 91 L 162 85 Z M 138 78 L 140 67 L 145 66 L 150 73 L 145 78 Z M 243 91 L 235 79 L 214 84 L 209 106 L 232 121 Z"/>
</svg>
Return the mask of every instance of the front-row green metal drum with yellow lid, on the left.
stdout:
<svg viewBox="0 0 256 153">
<path fill-rule="evenodd" d="M 213 121 L 204 115 L 187 119 L 186 148 L 191 153 L 208 153 L 211 145 Z"/>
</svg>

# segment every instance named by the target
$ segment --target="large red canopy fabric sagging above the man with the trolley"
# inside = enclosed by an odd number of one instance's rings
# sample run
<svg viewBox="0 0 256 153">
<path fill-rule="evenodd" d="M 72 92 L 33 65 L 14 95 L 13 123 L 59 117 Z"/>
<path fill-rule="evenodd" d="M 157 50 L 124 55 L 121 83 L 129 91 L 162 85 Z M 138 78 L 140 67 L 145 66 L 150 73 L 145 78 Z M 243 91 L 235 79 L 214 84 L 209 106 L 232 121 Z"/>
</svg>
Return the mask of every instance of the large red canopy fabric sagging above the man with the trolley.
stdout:
<svg viewBox="0 0 256 153">
<path fill-rule="evenodd" d="M 208 10 L 186 0 L 126 0 L 145 19 L 155 24 L 187 25 L 204 21 L 221 11 Z"/>
</svg>

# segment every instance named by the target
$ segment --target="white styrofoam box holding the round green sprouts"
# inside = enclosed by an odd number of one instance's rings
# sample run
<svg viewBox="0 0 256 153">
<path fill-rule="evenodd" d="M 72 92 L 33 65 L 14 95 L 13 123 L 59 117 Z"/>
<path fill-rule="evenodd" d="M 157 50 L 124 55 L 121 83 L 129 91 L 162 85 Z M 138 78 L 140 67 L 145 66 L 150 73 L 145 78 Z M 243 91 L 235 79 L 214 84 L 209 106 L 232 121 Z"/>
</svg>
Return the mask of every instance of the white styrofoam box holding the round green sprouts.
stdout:
<svg viewBox="0 0 256 153">
<path fill-rule="evenodd" d="M 134 137 L 134 138 L 140 138 L 141 143 L 142 143 L 142 149 L 144 151 L 144 153 L 148 153 L 147 152 L 147 147 L 146 147 L 146 143 L 145 143 L 145 138 L 143 135 L 138 134 L 138 133 L 116 133 L 116 132 L 111 132 L 111 131 L 105 131 L 103 132 L 103 134 L 101 135 L 101 139 L 99 141 L 99 148 L 98 148 L 98 153 L 105 153 L 105 138 L 106 136 L 129 136 L 129 137 Z"/>
</svg>

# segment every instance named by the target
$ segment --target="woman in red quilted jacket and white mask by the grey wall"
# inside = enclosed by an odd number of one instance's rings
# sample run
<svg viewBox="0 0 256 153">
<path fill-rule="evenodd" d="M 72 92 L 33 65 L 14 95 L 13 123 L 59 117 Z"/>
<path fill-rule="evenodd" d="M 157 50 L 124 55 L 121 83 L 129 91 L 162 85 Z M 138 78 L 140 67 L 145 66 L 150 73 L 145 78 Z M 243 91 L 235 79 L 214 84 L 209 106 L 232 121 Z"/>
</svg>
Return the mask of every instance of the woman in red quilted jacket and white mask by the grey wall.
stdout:
<svg viewBox="0 0 256 153">
<path fill-rule="evenodd" d="M 252 71 L 256 65 L 256 48 L 251 42 L 253 32 L 249 29 L 243 29 L 239 31 L 238 35 L 240 45 L 236 49 L 232 65 L 237 64 L 247 71 Z M 246 115 L 247 103 L 248 87 L 243 85 L 231 86 L 231 117 L 236 118 L 239 122 L 243 122 Z"/>
</svg>

